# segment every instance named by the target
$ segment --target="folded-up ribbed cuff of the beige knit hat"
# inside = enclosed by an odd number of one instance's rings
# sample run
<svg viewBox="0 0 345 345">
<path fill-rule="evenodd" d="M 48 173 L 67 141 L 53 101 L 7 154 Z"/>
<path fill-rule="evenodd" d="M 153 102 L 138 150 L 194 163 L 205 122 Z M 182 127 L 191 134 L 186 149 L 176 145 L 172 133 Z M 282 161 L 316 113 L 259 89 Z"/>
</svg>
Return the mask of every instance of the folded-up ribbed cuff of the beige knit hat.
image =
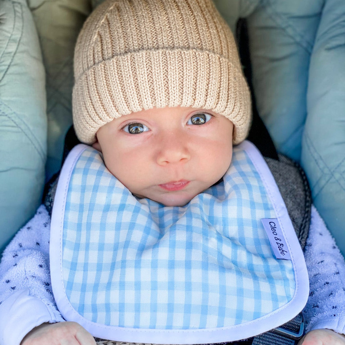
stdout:
<svg viewBox="0 0 345 345">
<path fill-rule="evenodd" d="M 231 57 L 232 58 L 232 57 Z M 234 123 L 234 144 L 250 125 L 247 83 L 229 59 L 198 49 L 152 49 L 101 61 L 76 76 L 73 121 L 86 144 L 97 130 L 131 112 L 164 107 L 208 109 Z"/>
</svg>

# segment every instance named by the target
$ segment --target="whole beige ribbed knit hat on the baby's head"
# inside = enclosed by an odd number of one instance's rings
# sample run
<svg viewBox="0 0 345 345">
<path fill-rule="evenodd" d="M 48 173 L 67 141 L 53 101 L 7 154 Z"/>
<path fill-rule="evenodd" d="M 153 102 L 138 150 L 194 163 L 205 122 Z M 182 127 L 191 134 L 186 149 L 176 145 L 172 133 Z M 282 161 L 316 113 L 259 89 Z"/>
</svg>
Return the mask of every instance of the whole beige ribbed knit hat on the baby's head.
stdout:
<svg viewBox="0 0 345 345">
<path fill-rule="evenodd" d="M 95 142 L 114 118 L 194 107 L 250 125 L 250 94 L 233 34 L 211 0 L 106 0 L 86 20 L 74 57 L 73 122 Z"/>
</svg>

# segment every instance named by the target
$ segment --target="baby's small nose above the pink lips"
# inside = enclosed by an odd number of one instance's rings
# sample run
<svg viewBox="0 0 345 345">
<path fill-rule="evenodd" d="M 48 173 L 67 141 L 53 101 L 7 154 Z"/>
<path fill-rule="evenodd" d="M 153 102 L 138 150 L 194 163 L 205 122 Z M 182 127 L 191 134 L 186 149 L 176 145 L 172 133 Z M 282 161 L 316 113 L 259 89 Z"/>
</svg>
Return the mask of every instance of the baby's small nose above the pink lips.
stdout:
<svg viewBox="0 0 345 345">
<path fill-rule="evenodd" d="M 167 165 L 183 163 L 190 159 L 188 140 L 184 135 L 169 133 L 159 142 L 157 163 Z"/>
</svg>

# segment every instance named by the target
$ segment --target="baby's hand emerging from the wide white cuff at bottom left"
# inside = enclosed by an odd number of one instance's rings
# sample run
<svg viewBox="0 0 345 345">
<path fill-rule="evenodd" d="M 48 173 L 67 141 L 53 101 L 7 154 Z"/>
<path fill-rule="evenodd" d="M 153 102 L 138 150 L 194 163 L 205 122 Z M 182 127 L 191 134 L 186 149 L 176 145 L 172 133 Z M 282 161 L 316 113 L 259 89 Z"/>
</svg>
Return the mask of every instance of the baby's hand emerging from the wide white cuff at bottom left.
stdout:
<svg viewBox="0 0 345 345">
<path fill-rule="evenodd" d="M 96 345 L 93 336 L 76 322 L 44 323 L 35 327 L 20 345 Z"/>
</svg>

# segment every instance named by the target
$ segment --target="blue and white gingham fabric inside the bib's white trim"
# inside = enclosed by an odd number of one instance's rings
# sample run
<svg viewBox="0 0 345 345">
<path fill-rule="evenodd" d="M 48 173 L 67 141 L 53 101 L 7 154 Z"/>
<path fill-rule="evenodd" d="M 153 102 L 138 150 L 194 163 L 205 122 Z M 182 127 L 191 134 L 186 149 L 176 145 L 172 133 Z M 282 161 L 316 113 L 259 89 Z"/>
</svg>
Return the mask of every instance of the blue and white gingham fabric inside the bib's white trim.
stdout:
<svg viewBox="0 0 345 345">
<path fill-rule="evenodd" d="M 71 305 L 110 326 L 224 327 L 293 296 L 292 263 L 276 260 L 261 223 L 275 218 L 245 151 L 224 183 L 184 207 L 134 197 L 87 148 L 70 180 L 63 278 Z"/>
</svg>

